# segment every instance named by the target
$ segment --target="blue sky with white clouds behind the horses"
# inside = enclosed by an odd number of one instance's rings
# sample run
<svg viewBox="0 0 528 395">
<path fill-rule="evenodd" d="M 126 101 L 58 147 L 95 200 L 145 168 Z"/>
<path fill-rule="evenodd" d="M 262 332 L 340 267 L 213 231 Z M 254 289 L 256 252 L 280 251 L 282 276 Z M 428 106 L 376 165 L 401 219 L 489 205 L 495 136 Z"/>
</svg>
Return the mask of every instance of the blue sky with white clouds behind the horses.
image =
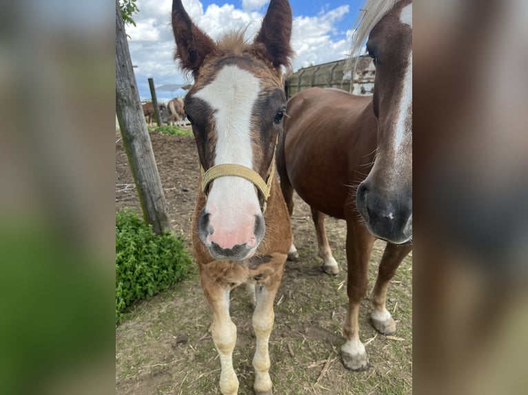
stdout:
<svg viewBox="0 0 528 395">
<path fill-rule="evenodd" d="M 150 99 L 148 78 L 154 85 L 192 83 L 192 77 L 179 70 L 173 60 L 174 36 L 170 26 L 172 0 L 137 0 L 136 26 L 127 25 L 128 45 L 141 99 Z M 267 10 L 267 0 L 183 0 L 191 19 L 212 39 L 223 32 L 248 26 L 247 36 L 254 37 Z M 346 58 L 350 48 L 352 25 L 362 0 L 290 0 L 294 17 L 292 47 L 296 53 L 294 71 L 309 65 Z M 164 92 L 156 89 L 160 102 L 185 91 Z"/>
</svg>

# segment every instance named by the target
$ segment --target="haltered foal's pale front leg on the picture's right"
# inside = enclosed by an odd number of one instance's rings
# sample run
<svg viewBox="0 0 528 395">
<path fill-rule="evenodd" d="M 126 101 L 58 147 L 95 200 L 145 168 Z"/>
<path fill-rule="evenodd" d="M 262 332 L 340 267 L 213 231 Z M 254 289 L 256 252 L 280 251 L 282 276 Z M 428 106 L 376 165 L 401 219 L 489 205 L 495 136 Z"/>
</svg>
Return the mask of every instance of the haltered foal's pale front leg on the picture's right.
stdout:
<svg viewBox="0 0 528 395">
<path fill-rule="evenodd" d="M 282 255 L 281 259 L 285 260 Z M 273 302 L 281 285 L 283 266 L 277 270 L 266 284 L 255 286 L 256 307 L 253 313 L 253 329 L 256 337 L 256 350 L 253 357 L 255 370 L 254 390 L 257 395 L 272 395 L 272 379 L 270 378 L 270 354 L 268 343 L 273 329 L 275 313 Z"/>
</svg>

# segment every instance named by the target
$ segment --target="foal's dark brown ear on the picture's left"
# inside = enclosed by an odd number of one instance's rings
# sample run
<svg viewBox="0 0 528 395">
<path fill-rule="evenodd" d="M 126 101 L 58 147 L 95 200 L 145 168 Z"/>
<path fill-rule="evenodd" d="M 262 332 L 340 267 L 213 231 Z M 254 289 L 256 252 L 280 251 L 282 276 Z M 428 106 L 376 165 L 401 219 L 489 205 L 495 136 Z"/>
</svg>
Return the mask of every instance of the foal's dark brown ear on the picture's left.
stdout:
<svg viewBox="0 0 528 395">
<path fill-rule="evenodd" d="M 214 41 L 192 23 L 181 0 L 172 1 L 172 31 L 176 41 L 174 58 L 196 79 L 203 59 L 214 50 Z"/>
</svg>

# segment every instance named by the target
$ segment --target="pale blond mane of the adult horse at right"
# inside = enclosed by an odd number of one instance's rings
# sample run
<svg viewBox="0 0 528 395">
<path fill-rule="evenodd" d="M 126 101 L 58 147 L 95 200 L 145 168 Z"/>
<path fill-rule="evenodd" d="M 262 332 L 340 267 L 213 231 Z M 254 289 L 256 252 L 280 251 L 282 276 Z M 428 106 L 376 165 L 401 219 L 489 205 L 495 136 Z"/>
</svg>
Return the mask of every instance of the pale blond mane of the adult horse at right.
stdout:
<svg viewBox="0 0 528 395">
<path fill-rule="evenodd" d="M 353 69 L 354 59 L 360 55 L 363 45 L 376 23 L 396 6 L 400 0 L 367 0 L 361 9 L 358 18 L 352 25 L 352 47 L 350 50 L 349 68 Z"/>
</svg>

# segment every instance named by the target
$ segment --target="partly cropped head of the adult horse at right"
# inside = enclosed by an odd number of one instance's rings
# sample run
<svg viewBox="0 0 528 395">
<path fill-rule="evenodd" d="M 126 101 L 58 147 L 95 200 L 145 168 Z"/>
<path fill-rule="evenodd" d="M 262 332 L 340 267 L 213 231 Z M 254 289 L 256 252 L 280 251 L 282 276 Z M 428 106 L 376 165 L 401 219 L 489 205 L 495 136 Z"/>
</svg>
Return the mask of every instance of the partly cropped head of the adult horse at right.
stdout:
<svg viewBox="0 0 528 395">
<path fill-rule="evenodd" d="M 368 12 L 376 12 L 368 7 L 365 19 L 372 17 Z M 376 66 L 378 148 L 356 202 L 372 234 L 403 244 L 412 242 L 412 1 L 390 7 L 369 30 L 367 41 Z"/>
</svg>

